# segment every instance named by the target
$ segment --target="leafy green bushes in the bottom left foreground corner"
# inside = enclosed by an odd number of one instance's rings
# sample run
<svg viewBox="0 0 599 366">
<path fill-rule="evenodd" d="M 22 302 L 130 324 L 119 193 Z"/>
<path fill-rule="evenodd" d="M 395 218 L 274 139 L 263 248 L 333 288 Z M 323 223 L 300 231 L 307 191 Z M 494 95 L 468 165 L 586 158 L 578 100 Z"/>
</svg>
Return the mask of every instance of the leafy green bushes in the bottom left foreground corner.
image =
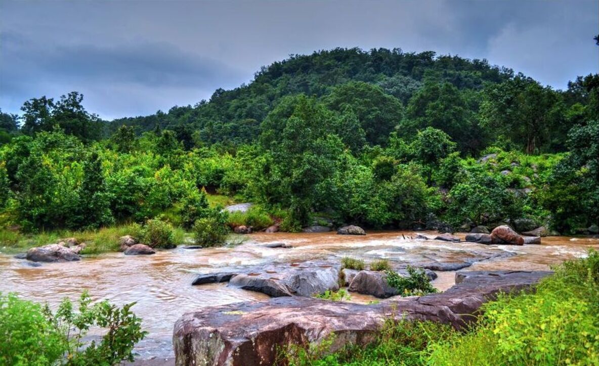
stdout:
<svg viewBox="0 0 599 366">
<path fill-rule="evenodd" d="M 0 294 L 0 363 L 7 365 L 114 365 L 134 361 L 133 347 L 146 335 L 141 319 L 122 308 L 92 300 L 84 292 L 77 311 L 68 298 L 53 313 L 46 305 Z M 83 340 L 91 327 L 105 329 L 100 341 Z"/>
</svg>

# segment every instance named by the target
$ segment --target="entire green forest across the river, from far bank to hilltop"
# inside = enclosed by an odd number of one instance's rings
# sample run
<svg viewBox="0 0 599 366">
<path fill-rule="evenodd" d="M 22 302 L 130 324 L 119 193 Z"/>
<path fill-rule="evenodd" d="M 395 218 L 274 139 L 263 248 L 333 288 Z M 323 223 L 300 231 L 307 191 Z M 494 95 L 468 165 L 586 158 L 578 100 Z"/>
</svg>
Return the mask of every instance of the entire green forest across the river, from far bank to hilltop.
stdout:
<svg viewBox="0 0 599 366">
<path fill-rule="evenodd" d="M 326 217 L 585 232 L 599 220 L 598 80 L 553 90 L 486 61 L 335 49 L 273 63 L 193 107 L 110 123 L 77 92 L 31 99 L 20 126 L 1 114 L 0 225 L 162 215 L 197 230 L 222 222 L 206 199 L 218 192 L 260 204 L 230 217 L 255 229 Z"/>
</svg>

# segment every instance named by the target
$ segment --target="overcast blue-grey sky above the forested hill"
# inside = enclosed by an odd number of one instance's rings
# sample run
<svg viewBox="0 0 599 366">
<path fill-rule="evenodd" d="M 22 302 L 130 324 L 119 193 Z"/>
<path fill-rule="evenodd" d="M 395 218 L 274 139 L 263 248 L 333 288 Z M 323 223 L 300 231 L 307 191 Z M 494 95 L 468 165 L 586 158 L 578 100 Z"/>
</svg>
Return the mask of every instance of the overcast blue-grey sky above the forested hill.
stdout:
<svg viewBox="0 0 599 366">
<path fill-rule="evenodd" d="M 0 0 L 0 108 L 72 90 L 104 119 L 168 111 L 335 47 L 488 59 L 556 89 L 599 72 L 597 0 Z"/>
</svg>

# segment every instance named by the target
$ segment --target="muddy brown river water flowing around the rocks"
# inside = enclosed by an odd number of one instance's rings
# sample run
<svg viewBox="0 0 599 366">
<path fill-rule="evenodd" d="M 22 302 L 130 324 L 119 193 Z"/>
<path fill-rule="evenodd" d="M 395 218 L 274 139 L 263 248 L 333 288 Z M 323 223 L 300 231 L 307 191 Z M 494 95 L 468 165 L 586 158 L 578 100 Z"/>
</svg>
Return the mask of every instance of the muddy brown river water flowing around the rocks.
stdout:
<svg viewBox="0 0 599 366">
<path fill-rule="evenodd" d="M 424 234 L 434 237 L 434 233 Z M 415 232 L 373 232 L 366 236 L 322 234 L 252 234 L 235 247 L 162 250 L 150 256 L 122 253 L 84 258 L 80 262 L 30 267 L 22 259 L 3 254 L 0 248 L 0 292 L 18 292 L 23 298 L 48 302 L 56 307 L 63 297 L 72 300 L 84 289 L 95 300 L 108 299 L 133 307 L 143 318 L 147 338 L 136 347 L 138 359 L 160 364 L 172 362 L 171 334 L 174 322 L 186 311 L 239 301 L 264 301 L 267 295 L 230 288 L 226 283 L 191 286 L 199 273 L 225 271 L 239 266 L 275 262 L 363 258 L 368 263 L 386 258 L 394 263 L 474 261 L 465 270 L 547 270 L 565 259 L 581 258 L 589 247 L 599 248 L 591 238 L 547 237 L 541 245 L 485 246 L 413 240 Z M 461 235 L 462 239 L 464 235 Z M 285 243 L 291 248 L 268 248 Z M 476 260 L 480 253 L 490 259 Z M 437 271 L 433 284 L 441 291 L 454 284 L 454 271 Z M 368 303 L 373 297 L 351 294 L 350 301 Z M 152 360 L 152 361 L 147 361 Z"/>
</svg>

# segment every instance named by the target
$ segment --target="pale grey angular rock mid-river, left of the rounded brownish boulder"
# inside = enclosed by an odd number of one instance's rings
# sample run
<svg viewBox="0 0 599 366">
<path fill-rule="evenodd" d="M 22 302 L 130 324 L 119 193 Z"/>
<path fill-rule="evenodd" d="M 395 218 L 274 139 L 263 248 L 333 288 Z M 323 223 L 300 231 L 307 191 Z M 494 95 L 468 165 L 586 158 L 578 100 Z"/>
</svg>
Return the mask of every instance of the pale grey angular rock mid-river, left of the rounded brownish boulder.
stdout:
<svg viewBox="0 0 599 366">
<path fill-rule="evenodd" d="M 313 296 L 339 289 L 341 265 L 320 261 L 263 267 L 261 271 L 238 274 L 229 286 L 258 291 L 271 297 Z"/>
</svg>

